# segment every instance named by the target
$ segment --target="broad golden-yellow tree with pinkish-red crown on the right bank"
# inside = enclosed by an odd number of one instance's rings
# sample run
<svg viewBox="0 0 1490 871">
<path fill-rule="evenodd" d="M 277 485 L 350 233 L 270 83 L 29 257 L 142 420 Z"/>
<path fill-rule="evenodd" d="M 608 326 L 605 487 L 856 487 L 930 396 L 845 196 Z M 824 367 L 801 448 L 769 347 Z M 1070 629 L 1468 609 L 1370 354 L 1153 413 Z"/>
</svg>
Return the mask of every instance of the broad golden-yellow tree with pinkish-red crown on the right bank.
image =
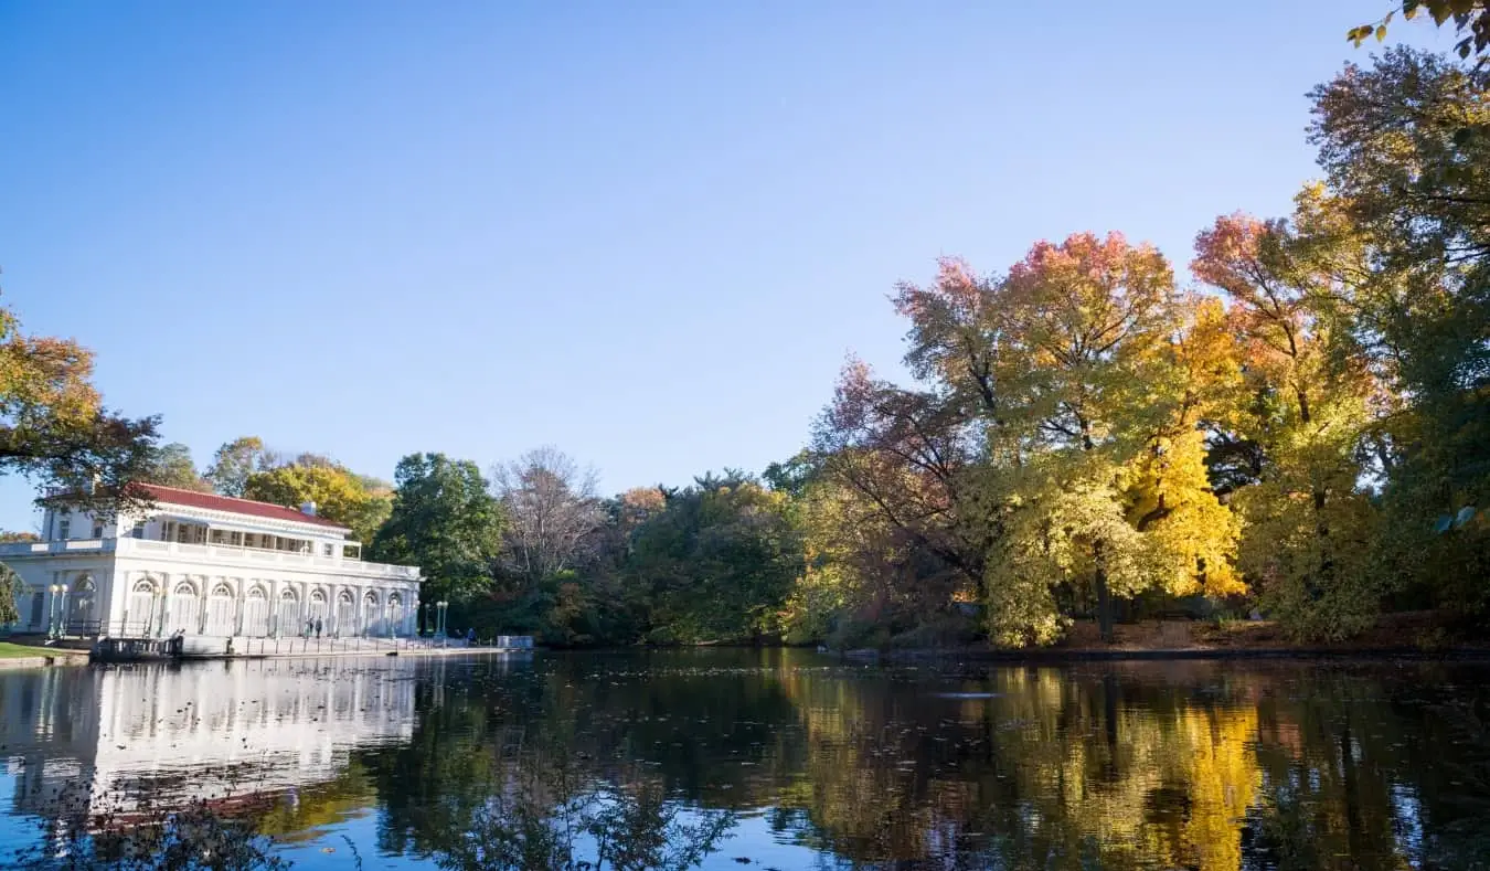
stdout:
<svg viewBox="0 0 1490 871">
<path fill-rule="evenodd" d="M 897 306 L 907 362 L 937 388 L 924 403 L 977 446 L 937 504 L 982 531 L 998 641 L 1058 638 L 1062 601 L 1094 609 L 1110 637 L 1115 597 L 1240 588 L 1199 431 L 1234 367 L 1211 346 L 1214 313 L 1176 291 L 1158 251 L 1083 233 L 1036 245 L 1003 279 L 946 261 Z"/>
</svg>

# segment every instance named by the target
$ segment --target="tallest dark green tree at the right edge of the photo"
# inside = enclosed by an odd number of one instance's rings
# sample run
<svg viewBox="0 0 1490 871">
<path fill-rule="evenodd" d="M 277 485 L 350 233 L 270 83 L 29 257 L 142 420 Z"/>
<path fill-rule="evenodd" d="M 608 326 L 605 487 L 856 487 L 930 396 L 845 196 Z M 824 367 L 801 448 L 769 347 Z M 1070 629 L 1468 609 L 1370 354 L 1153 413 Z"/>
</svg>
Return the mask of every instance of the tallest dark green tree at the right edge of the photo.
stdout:
<svg viewBox="0 0 1490 871">
<path fill-rule="evenodd" d="M 1483 18 L 1481 18 L 1483 21 Z M 1396 48 L 1311 92 L 1296 233 L 1387 397 L 1363 447 L 1404 604 L 1490 610 L 1490 67 Z M 1426 597 L 1426 601 L 1424 601 Z"/>
</svg>

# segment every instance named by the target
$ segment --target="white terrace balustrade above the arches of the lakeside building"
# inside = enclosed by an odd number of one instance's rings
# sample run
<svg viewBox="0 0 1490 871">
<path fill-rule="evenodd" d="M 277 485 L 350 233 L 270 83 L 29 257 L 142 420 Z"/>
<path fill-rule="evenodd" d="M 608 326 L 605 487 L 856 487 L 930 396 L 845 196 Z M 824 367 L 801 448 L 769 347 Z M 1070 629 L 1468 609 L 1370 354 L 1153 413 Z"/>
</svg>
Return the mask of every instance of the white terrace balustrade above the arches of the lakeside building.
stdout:
<svg viewBox="0 0 1490 871">
<path fill-rule="evenodd" d="M 73 538 L 67 541 L 0 544 L 0 559 L 16 556 L 82 556 L 101 552 L 118 552 L 121 556 L 136 558 L 165 556 L 170 559 L 189 559 L 246 571 L 282 565 L 285 568 L 325 571 L 328 574 L 419 580 L 419 567 L 416 565 L 364 562 L 349 556 L 317 556 L 294 550 L 265 550 L 261 547 L 235 547 L 232 544 L 182 544 L 179 541 L 150 541 L 149 538 Z"/>
</svg>

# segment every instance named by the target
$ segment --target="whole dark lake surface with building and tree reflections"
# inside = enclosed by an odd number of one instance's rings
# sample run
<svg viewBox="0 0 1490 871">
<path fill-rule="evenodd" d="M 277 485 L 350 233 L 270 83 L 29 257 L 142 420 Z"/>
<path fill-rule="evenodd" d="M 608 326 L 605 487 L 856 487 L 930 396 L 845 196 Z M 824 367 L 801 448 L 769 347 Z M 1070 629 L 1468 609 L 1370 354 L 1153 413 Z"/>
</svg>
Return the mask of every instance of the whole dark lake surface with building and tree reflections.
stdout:
<svg viewBox="0 0 1490 871">
<path fill-rule="evenodd" d="M 0 673 L 0 867 L 182 808 L 317 871 L 501 867 L 554 808 L 609 820 L 580 858 L 727 826 L 705 868 L 1490 867 L 1490 668 L 1468 664 L 51 668 Z"/>
</svg>

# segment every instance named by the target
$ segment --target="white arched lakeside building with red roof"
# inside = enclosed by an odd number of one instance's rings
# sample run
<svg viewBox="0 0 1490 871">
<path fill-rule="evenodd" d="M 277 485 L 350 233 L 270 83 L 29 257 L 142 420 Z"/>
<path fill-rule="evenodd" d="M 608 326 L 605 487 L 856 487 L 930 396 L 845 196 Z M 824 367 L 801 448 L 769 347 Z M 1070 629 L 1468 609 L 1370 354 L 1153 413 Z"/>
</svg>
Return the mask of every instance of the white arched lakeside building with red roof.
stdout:
<svg viewBox="0 0 1490 871">
<path fill-rule="evenodd" d="M 364 562 L 350 529 L 297 512 L 142 485 L 113 521 L 46 510 L 42 541 L 0 544 L 25 582 L 18 631 L 76 635 L 390 637 L 416 631 L 419 568 Z"/>
</svg>

